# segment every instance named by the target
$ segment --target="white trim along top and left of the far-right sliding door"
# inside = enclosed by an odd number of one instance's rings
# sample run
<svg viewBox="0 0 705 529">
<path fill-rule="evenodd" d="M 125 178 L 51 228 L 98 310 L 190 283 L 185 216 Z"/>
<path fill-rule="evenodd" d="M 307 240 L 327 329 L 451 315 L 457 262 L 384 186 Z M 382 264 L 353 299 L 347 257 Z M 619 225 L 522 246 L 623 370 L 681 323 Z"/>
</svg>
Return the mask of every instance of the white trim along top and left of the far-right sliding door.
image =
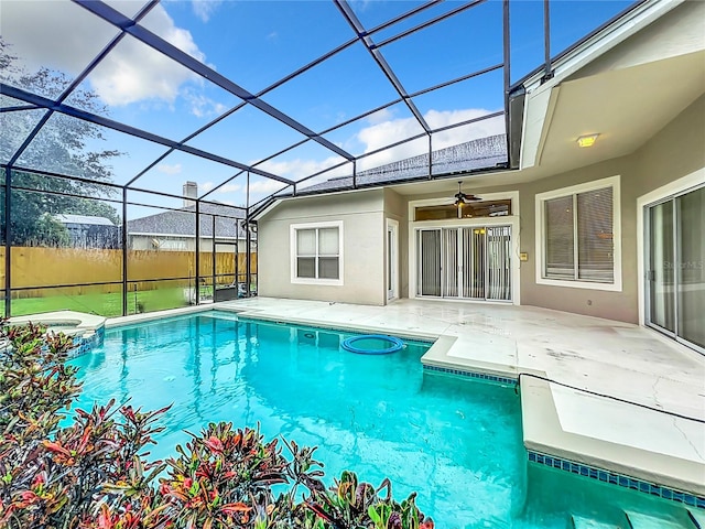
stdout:
<svg viewBox="0 0 705 529">
<path fill-rule="evenodd" d="M 638 284 L 638 303 L 639 303 L 639 325 L 646 325 L 646 291 L 644 291 L 644 223 L 643 223 L 643 209 L 644 207 L 668 198 L 672 195 L 679 195 L 691 187 L 702 186 L 705 182 L 705 168 L 701 168 L 691 174 L 687 174 L 681 179 L 669 182 L 661 187 L 658 187 L 646 195 L 641 195 L 637 198 L 637 284 Z"/>
</svg>

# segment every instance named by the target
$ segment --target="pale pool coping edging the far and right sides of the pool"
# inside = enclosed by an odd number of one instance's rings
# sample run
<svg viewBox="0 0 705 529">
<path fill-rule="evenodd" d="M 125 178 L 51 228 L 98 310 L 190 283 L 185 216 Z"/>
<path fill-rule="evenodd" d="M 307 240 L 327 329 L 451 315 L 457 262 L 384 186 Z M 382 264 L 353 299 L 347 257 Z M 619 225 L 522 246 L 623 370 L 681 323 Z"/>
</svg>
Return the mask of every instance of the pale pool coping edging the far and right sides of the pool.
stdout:
<svg viewBox="0 0 705 529">
<path fill-rule="evenodd" d="M 421 358 L 425 369 L 454 373 L 505 384 L 518 381 L 522 374 L 545 378 L 545 373 L 522 368 L 519 365 L 494 364 L 451 356 L 448 353 L 456 346 L 457 342 L 457 337 L 453 335 L 423 333 L 416 332 L 416 330 L 413 332 L 391 330 L 384 326 L 360 323 L 347 325 L 344 322 L 330 323 L 314 319 L 291 317 L 291 315 L 282 317 L 268 314 L 256 307 L 234 306 L 232 304 L 214 303 L 205 306 L 194 305 L 170 311 L 134 314 L 110 319 L 106 321 L 105 326 L 106 328 L 111 328 L 169 316 L 210 311 L 231 312 L 242 317 L 268 322 L 293 323 L 337 331 L 393 334 L 409 339 L 433 341 L 432 347 Z M 585 473 L 582 471 L 578 471 L 578 473 L 587 477 L 599 478 L 605 475 L 604 473 L 608 473 L 626 478 L 625 483 L 627 485 L 622 485 L 618 478 L 616 482 L 609 483 L 622 486 L 628 486 L 631 483 L 632 486 L 629 488 L 677 501 L 683 501 L 685 497 L 687 501 L 683 503 L 705 508 L 705 484 L 702 481 L 702 476 L 705 475 L 705 464 L 566 432 L 561 428 L 554 396 L 546 380 L 522 377 L 521 388 L 523 444 L 531 462 L 547 464 L 549 466 L 574 473 L 576 472 L 575 469 L 572 471 L 572 468 L 575 468 L 575 466 L 572 465 L 579 465 L 578 468 L 585 468 Z M 557 466 L 556 462 L 558 462 Z M 661 490 L 664 492 L 663 495 L 657 494 L 657 492 Z"/>
</svg>

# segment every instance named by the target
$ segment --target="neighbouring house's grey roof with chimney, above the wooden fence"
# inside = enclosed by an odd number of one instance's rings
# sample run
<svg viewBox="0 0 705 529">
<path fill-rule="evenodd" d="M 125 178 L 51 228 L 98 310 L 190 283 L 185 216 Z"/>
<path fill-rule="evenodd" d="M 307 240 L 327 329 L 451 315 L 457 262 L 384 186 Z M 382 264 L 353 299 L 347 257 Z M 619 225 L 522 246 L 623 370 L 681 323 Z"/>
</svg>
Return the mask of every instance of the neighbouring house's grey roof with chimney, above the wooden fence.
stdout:
<svg viewBox="0 0 705 529">
<path fill-rule="evenodd" d="M 196 206 L 186 206 L 148 217 L 128 220 L 128 234 L 196 236 Z M 245 212 L 232 206 L 218 204 L 200 204 L 200 236 L 213 237 L 213 216 L 216 216 L 216 237 L 245 238 L 246 231 L 241 223 Z M 234 218 L 235 217 L 235 218 Z"/>
</svg>

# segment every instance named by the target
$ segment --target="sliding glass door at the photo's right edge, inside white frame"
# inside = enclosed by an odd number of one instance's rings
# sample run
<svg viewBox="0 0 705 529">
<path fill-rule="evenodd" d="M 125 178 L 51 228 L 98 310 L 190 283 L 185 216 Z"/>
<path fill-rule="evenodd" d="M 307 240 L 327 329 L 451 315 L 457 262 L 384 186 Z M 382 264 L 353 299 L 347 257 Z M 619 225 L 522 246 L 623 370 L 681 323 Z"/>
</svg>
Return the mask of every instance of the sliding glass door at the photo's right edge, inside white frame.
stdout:
<svg viewBox="0 0 705 529">
<path fill-rule="evenodd" d="M 644 216 L 647 324 L 705 353 L 705 187 Z"/>
</svg>

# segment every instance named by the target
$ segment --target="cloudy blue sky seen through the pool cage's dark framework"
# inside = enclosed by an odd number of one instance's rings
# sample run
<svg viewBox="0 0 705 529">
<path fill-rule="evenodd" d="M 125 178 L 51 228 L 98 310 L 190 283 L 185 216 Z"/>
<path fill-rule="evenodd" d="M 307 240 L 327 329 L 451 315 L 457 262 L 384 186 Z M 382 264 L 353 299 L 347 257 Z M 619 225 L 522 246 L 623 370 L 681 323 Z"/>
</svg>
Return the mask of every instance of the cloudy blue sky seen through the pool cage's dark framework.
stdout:
<svg viewBox="0 0 705 529">
<path fill-rule="evenodd" d="M 127 17 L 143 6 L 137 0 L 107 2 Z M 366 30 L 420 4 L 401 0 L 349 2 Z M 627 8 L 629 1 L 563 0 L 551 2 L 552 55 Z M 375 33 L 382 43 L 426 20 L 460 7 L 446 1 L 414 18 Z M 511 79 L 516 82 L 544 56 L 543 3 L 518 0 L 510 4 Z M 75 78 L 118 34 L 118 30 L 68 0 L 0 0 L 1 34 L 18 65 L 26 72 L 46 67 Z M 489 0 L 459 14 L 380 47 L 408 94 L 489 68 L 502 62 L 502 7 Z M 164 0 L 140 24 L 206 64 L 251 94 L 268 90 L 282 77 L 355 36 L 332 1 L 315 0 Z M 447 127 L 502 109 L 502 71 L 413 97 L 432 129 Z M 182 141 L 241 100 L 128 35 L 88 75 L 82 88 L 94 93 L 113 120 Z M 47 89 L 45 97 L 58 94 Z M 366 111 L 399 98 L 398 93 L 360 42 L 333 55 L 293 79 L 269 89 L 261 99 L 352 155 L 375 152 L 421 133 L 404 104 L 380 110 L 338 130 L 325 132 Z M 65 101 L 80 106 L 70 96 Z M 4 100 L 3 100 L 4 104 Z M 54 119 L 54 118 L 52 118 Z M 433 149 L 503 133 L 503 118 L 433 134 Z M 41 133 L 40 133 L 41 134 Z M 124 184 L 144 172 L 165 152 L 160 144 L 105 129 L 105 141 L 89 149 L 117 149 L 113 181 Z M 264 161 L 304 137 L 259 109 L 245 105 L 196 136 L 188 145 L 248 165 L 300 180 L 344 161 L 315 142 Z M 31 150 L 32 145 L 28 149 Z M 357 170 L 427 152 L 426 139 L 411 141 L 358 161 Z M 31 152 L 28 152 L 28 159 Z M 4 160 L 3 160 L 4 161 Z M 22 158 L 19 160 L 21 164 Z M 37 168 L 61 172 L 51 165 Z M 329 171 L 308 184 L 351 173 L 351 164 Z M 209 199 L 246 205 L 242 174 L 235 168 L 174 152 L 144 172 L 133 186 L 181 195 L 185 181 L 198 184 Z M 276 181 L 251 175 L 250 204 L 282 187 Z M 137 195 L 135 195 L 137 196 Z M 140 197 L 143 199 L 143 195 Z M 152 198 L 178 207 L 178 199 Z"/>
</svg>

